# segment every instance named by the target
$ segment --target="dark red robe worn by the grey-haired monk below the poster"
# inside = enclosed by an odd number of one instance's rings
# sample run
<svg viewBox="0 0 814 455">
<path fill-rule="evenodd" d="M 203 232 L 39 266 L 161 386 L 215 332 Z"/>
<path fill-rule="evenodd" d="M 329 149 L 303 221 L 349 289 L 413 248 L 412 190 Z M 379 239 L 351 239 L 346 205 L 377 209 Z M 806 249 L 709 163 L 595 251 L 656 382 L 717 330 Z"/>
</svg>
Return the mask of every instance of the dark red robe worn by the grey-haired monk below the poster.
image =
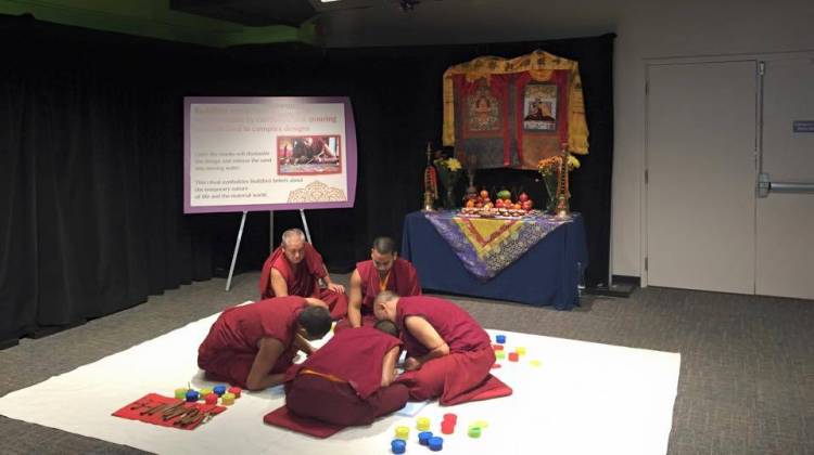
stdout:
<svg viewBox="0 0 814 455">
<path fill-rule="evenodd" d="M 260 298 L 267 299 L 275 296 L 270 286 L 271 269 L 275 269 L 285 280 L 289 296 L 315 297 L 328 303 L 333 320 L 344 317 L 347 313 L 347 296 L 319 287 L 319 280 L 327 275 L 322 256 L 307 242 L 303 248 L 303 255 L 304 258 L 300 263 L 292 264 L 285 258 L 282 246 L 271 252 L 260 272 Z"/>
</svg>

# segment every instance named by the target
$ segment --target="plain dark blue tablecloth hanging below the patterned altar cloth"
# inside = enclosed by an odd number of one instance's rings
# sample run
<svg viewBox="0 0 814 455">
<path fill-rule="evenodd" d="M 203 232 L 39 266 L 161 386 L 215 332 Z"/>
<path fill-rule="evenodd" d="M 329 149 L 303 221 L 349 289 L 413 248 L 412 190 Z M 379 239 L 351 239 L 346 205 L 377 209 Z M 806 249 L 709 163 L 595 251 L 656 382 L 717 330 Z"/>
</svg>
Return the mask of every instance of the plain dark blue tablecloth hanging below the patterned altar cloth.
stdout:
<svg viewBox="0 0 814 455">
<path fill-rule="evenodd" d="M 585 225 L 578 213 L 555 229 L 494 278 L 482 282 L 463 266 L 422 212 L 404 222 L 402 257 L 412 262 L 424 289 L 570 310 L 588 264 Z"/>
</svg>

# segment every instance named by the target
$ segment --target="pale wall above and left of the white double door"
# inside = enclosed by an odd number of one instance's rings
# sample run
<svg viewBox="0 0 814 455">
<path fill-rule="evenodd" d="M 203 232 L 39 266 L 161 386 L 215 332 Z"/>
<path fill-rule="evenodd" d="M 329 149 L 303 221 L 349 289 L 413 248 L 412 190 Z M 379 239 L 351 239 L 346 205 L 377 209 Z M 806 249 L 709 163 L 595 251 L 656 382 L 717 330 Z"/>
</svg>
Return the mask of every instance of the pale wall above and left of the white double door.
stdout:
<svg viewBox="0 0 814 455">
<path fill-rule="evenodd" d="M 330 47 L 525 41 L 615 32 L 613 264 L 640 276 L 645 62 L 814 50 L 814 0 L 424 0 L 331 13 Z M 814 81 L 812 81 L 814 83 Z M 589 158 L 588 158 L 589 159 Z"/>
</svg>

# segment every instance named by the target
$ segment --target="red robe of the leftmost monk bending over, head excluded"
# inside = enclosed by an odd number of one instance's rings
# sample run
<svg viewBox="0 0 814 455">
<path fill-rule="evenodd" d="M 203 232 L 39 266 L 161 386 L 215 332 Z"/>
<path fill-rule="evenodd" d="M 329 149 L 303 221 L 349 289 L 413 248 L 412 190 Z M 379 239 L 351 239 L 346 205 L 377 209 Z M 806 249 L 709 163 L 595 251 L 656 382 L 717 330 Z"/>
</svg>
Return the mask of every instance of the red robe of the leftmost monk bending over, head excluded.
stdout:
<svg viewBox="0 0 814 455">
<path fill-rule="evenodd" d="M 306 304 L 302 297 L 289 296 L 224 310 L 198 348 L 198 366 L 214 380 L 245 388 L 257 342 L 275 338 L 285 350 L 269 373 L 285 373 L 297 351 L 292 344 L 296 317 Z"/>
</svg>

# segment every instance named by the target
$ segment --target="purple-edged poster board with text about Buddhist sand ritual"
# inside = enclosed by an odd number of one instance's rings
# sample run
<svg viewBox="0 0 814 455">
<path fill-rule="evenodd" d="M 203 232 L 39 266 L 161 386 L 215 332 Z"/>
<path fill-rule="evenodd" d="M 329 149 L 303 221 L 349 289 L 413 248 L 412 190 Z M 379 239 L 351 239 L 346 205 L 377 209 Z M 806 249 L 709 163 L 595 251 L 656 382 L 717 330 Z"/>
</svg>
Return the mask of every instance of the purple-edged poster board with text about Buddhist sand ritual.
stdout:
<svg viewBox="0 0 814 455">
<path fill-rule="evenodd" d="M 347 98 L 187 96 L 185 213 L 353 207 Z"/>
</svg>

